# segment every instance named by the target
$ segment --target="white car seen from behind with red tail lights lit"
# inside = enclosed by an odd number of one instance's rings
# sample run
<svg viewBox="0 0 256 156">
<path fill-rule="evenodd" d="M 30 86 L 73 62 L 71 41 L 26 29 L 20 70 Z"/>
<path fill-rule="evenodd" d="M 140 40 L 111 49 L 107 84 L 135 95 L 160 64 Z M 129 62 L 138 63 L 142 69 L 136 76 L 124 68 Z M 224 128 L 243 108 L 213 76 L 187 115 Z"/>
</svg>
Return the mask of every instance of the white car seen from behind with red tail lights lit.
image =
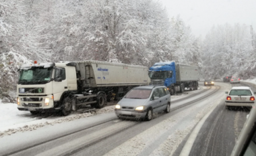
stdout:
<svg viewBox="0 0 256 156">
<path fill-rule="evenodd" d="M 230 106 L 253 106 L 255 103 L 255 94 L 248 86 L 234 86 L 226 96 L 226 109 Z"/>
</svg>

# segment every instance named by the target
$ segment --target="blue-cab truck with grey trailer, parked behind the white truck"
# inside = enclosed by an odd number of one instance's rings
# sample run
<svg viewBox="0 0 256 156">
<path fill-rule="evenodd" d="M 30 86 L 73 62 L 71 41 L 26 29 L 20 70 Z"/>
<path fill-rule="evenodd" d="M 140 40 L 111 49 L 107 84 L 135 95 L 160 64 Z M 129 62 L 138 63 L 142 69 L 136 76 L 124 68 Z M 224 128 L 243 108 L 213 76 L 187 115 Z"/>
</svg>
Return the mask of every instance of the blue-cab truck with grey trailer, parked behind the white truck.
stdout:
<svg viewBox="0 0 256 156">
<path fill-rule="evenodd" d="M 166 86 L 171 95 L 185 88 L 198 89 L 199 68 L 175 62 L 158 62 L 150 67 L 149 76 L 154 86 Z"/>
</svg>

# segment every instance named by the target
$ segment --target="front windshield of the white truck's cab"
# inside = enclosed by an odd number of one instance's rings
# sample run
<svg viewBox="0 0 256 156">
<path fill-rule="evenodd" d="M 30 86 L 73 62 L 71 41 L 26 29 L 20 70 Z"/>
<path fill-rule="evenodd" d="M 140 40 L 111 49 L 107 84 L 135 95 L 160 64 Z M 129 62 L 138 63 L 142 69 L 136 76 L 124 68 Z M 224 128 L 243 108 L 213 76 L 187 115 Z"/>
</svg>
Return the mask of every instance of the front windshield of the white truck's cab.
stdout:
<svg viewBox="0 0 256 156">
<path fill-rule="evenodd" d="M 28 70 L 20 70 L 18 84 L 46 84 L 51 80 L 53 67 L 32 67 Z"/>
</svg>

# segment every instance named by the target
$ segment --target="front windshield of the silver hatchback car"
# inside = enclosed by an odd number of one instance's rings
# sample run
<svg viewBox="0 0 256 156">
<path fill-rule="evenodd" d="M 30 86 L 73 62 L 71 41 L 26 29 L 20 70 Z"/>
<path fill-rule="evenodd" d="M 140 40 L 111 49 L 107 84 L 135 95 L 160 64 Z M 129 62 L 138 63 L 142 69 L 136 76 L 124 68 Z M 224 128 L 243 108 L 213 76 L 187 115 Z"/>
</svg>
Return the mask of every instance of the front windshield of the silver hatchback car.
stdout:
<svg viewBox="0 0 256 156">
<path fill-rule="evenodd" d="M 132 89 L 125 95 L 125 98 L 146 99 L 150 97 L 151 91 L 151 89 Z"/>
</svg>

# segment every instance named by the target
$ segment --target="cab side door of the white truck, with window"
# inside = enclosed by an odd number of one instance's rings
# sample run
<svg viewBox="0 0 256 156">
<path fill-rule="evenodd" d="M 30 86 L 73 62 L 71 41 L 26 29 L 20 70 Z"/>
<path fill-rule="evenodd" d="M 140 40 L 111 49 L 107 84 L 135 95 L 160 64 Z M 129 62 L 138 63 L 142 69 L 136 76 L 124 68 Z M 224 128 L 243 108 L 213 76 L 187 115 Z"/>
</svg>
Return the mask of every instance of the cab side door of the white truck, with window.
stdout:
<svg viewBox="0 0 256 156">
<path fill-rule="evenodd" d="M 67 91 L 67 76 L 65 68 L 55 68 L 53 80 L 54 100 L 58 101 L 63 92 Z"/>
</svg>

